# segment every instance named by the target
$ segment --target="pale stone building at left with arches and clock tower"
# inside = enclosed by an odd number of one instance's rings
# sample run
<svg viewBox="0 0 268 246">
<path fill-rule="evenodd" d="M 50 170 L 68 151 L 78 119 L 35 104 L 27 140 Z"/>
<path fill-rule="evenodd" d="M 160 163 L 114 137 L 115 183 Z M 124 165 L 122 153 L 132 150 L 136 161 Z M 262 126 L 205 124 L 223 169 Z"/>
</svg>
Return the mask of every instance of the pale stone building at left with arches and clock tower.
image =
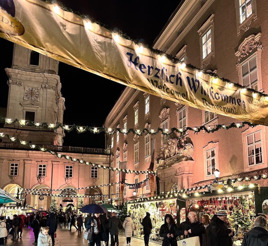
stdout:
<svg viewBox="0 0 268 246">
<path fill-rule="evenodd" d="M 58 76 L 59 62 L 14 45 L 13 63 L 6 68 L 8 75 L 8 104 L 1 108 L 1 116 L 19 120 L 32 120 L 36 123 L 63 123 L 64 101 L 61 95 L 61 82 Z M 62 129 L 36 128 L 19 124 L 1 124 L 0 132 L 9 134 L 43 148 L 55 150 L 74 158 L 109 166 L 109 150 L 62 146 Z M 75 190 L 84 196 L 108 194 L 109 172 L 102 168 L 57 158 L 49 153 L 27 149 L 25 145 L 0 139 L 0 187 L 16 196 L 18 188 L 28 189 L 65 189 L 96 186 L 93 189 Z M 46 193 L 59 193 L 45 191 Z M 26 194 L 23 194 L 25 197 Z M 44 210 L 49 208 L 50 196 L 27 194 L 27 204 Z M 96 197 L 96 200 L 102 199 Z M 77 207 L 78 199 L 64 203 L 58 199 L 58 206 Z M 84 198 L 84 203 L 92 203 Z"/>
</svg>

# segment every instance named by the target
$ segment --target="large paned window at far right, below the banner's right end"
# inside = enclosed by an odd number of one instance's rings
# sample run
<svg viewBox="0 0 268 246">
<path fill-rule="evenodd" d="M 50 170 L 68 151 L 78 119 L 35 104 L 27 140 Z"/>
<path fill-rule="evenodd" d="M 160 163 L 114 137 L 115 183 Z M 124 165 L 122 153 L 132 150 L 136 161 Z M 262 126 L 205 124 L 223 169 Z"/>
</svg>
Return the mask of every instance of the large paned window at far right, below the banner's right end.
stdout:
<svg viewBox="0 0 268 246">
<path fill-rule="evenodd" d="M 262 132 L 247 135 L 248 166 L 262 163 Z"/>
</svg>

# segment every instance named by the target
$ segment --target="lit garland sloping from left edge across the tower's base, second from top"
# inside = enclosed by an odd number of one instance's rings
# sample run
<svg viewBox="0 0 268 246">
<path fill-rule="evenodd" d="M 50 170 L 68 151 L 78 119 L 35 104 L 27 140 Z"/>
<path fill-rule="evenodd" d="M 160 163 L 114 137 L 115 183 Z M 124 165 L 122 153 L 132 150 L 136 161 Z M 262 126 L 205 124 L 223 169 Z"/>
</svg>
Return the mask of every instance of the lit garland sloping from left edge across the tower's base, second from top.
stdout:
<svg viewBox="0 0 268 246">
<path fill-rule="evenodd" d="M 4 138 L 4 137 L 7 137 L 10 141 L 12 142 L 15 142 L 17 141 L 18 143 L 20 144 L 23 144 L 23 145 L 26 145 L 26 146 L 29 146 L 31 149 L 35 149 L 35 150 L 40 150 L 42 152 L 48 152 L 50 153 L 51 155 L 54 155 L 54 156 L 57 156 L 58 158 L 65 158 L 66 160 L 70 160 L 70 161 L 74 161 L 74 162 L 79 162 L 81 164 L 86 164 L 86 165 L 91 165 L 93 167 L 98 167 L 98 168 L 103 168 L 103 169 L 109 169 L 110 171 L 118 171 L 118 172 L 126 172 L 126 173 L 135 173 L 135 174 L 145 174 L 145 173 L 151 173 L 153 175 L 156 175 L 157 172 L 156 171 L 137 171 L 137 170 L 128 170 L 128 169 L 121 169 L 121 168 L 118 168 L 118 167 L 107 167 L 107 166 L 103 166 L 101 164 L 97 164 L 97 163 L 92 163 L 91 161 L 85 161 L 85 160 L 80 160 L 80 159 L 77 159 L 77 158 L 73 158 L 71 156 L 68 156 L 68 155 L 64 155 L 64 154 L 61 154 L 61 153 L 58 153 L 56 151 L 52 151 L 50 149 L 46 149 L 46 148 L 42 148 L 41 146 L 39 145 L 35 145 L 35 144 L 31 144 L 27 141 L 24 141 L 24 140 L 21 140 L 19 138 L 15 138 L 15 137 L 11 137 L 9 134 L 4 134 L 4 133 L 0 133 L 0 138 Z"/>
</svg>

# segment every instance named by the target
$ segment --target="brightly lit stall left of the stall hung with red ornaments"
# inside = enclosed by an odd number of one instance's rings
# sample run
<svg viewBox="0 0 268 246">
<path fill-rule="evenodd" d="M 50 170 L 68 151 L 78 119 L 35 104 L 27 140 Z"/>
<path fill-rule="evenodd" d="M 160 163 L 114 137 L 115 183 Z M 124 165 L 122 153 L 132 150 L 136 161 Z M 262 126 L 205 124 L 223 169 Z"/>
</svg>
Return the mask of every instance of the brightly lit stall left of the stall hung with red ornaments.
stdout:
<svg viewBox="0 0 268 246">
<path fill-rule="evenodd" d="M 182 207 L 183 206 L 183 207 Z M 146 216 L 146 212 L 151 214 L 152 220 L 152 233 L 150 240 L 154 242 L 162 242 L 162 238 L 159 237 L 159 231 L 161 225 L 164 223 L 164 217 L 166 214 L 171 214 L 174 221 L 183 221 L 177 218 L 177 214 L 180 214 L 181 218 L 185 220 L 185 207 L 184 200 L 178 198 L 152 200 L 145 202 L 137 202 L 128 204 L 128 214 L 131 216 L 134 223 L 134 236 L 143 238 L 143 226 L 142 219 Z"/>
</svg>

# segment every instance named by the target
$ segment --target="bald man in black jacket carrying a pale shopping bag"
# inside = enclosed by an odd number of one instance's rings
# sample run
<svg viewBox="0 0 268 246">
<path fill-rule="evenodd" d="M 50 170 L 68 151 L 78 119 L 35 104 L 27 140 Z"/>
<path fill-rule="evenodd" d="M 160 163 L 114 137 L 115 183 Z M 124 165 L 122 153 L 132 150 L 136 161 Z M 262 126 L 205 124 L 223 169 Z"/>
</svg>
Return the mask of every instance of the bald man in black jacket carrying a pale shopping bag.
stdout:
<svg viewBox="0 0 268 246">
<path fill-rule="evenodd" d="M 205 227 L 202 222 L 197 220 L 195 212 L 189 212 L 186 221 L 182 222 L 178 228 L 178 235 L 187 237 L 199 237 L 200 245 L 202 245 L 202 234 L 205 233 Z"/>
</svg>

